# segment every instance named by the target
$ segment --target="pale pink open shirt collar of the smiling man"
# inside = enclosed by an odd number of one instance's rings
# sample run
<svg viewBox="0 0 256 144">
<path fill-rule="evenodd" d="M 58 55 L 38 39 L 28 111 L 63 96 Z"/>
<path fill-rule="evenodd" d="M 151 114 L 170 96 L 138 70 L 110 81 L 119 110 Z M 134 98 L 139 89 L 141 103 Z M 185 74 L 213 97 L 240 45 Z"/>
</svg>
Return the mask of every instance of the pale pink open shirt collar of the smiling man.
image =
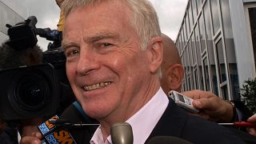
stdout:
<svg viewBox="0 0 256 144">
<path fill-rule="evenodd" d="M 160 87 L 154 97 L 150 99 L 136 114 L 129 118 L 126 122 L 130 123 L 133 129 L 134 144 L 141 144 L 146 142 L 146 138 L 150 136 L 154 126 L 168 106 L 169 100 Z M 110 136 L 106 142 L 103 142 L 102 130 L 100 126 L 95 131 L 93 138 L 90 140 L 91 144 L 98 143 L 112 143 Z"/>
</svg>

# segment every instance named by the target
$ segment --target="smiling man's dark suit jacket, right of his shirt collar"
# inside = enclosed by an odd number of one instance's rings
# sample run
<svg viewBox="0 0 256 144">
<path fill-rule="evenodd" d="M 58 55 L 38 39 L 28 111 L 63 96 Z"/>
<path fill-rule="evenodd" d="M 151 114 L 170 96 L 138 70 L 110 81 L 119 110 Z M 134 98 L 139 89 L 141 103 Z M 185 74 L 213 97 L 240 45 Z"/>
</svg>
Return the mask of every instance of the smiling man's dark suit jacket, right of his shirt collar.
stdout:
<svg viewBox="0 0 256 144">
<path fill-rule="evenodd" d="M 155 136 L 174 136 L 197 144 L 244 143 L 225 127 L 198 118 L 198 116 L 187 114 L 171 99 L 147 141 Z"/>
</svg>

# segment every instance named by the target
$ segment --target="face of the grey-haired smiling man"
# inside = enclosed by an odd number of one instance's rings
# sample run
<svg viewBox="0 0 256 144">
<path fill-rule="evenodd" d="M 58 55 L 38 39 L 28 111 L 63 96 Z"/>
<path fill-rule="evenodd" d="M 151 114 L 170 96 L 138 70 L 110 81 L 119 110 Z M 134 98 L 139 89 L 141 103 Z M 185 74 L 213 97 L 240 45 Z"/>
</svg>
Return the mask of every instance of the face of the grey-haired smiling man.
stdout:
<svg viewBox="0 0 256 144">
<path fill-rule="evenodd" d="M 129 17 L 120 1 L 106 1 L 66 18 L 66 73 L 83 110 L 98 120 L 126 120 L 150 88 L 149 52 L 141 51 Z"/>
</svg>

